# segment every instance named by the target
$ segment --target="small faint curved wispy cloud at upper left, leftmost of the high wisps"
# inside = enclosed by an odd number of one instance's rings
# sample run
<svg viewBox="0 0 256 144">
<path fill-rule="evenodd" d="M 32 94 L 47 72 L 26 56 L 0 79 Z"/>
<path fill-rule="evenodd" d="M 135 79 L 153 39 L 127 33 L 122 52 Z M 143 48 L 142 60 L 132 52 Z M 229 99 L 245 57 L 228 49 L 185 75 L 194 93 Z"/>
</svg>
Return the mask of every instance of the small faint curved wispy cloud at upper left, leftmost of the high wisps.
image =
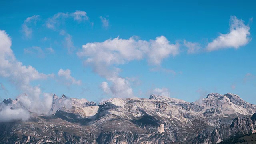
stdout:
<svg viewBox="0 0 256 144">
<path fill-rule="evenodd" d="M 24 33 L 24 36 L 26 38 L 31 38 L 32 36 L 32 29 L 28 26 L 30 25 L 31 23 L 34 23 L 36 24 L 36 22 L 39 20 L 39 17 L 38 15 L 34 15 L 34 16 L 31 16 L 31 17 L 28 17 L 23 25 L 22 25 L 22 32 Z"/>
</svg>

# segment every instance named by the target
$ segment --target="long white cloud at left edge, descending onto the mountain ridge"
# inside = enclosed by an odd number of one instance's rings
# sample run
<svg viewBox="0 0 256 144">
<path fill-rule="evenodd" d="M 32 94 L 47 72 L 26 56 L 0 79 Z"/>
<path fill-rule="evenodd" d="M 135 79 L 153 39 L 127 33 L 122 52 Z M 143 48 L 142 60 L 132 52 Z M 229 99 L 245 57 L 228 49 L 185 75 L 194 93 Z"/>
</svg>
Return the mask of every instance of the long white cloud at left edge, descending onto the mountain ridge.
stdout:
<svg viewBox="0 0 256 144">
<path fill-rule="evenodd" d="M 30 82 L 34 80 L 45 80 L 52 77 L 53 74 L 39 73 L 32 66 L 25 66 L 22 62 L 16 60 L 14 53 L 11 49 L 11 39 L 5 31 L 0 30 L 0 76 L 8 79 L 16 88 L 28 94 L 25 98 L 21 98 L 23 104 L 26 104 L 26 109 L 36 112 L 38 114 L 48 112 L 49 109 L 44 109 L 44 102 L 40 100 L 41 89 L 39 86 L 31 86 Z M 23 119 L 21 116 L 24 111 L 7 110 L 10 115 Z M 17 116 L 20 112 L 21 117 Z"/>
</svg>

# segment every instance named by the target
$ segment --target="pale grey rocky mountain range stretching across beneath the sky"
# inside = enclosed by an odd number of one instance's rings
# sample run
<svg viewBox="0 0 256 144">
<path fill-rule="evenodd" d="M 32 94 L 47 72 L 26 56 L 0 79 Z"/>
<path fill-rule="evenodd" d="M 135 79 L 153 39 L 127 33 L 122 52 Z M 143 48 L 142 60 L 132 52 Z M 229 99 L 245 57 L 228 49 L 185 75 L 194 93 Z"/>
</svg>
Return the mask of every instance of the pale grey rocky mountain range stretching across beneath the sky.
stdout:
<svg viewBox="0 0 256 144">
<path fill-rule="evenodd" d="M 2 104 L 14 107 L 19 100 Z M 255 112 L 255 105 L 230 93 L 211 93 L 192 103 L 156 95 L 111 98 L 98 106 L 53 94 L 49 114 L 31 113 L 26 122 L 0 123 L 0 143 L 211 144 L 254 132 L 255 119 L 250 116 Z"/>
</svg>

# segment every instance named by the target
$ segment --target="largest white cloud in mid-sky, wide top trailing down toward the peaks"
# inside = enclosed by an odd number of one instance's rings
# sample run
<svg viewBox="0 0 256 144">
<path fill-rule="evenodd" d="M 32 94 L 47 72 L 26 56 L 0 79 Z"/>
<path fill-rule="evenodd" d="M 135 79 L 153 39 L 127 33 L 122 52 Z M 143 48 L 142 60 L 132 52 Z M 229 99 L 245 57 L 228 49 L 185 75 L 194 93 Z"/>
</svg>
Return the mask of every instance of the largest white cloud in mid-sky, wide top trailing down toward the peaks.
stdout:
<svg viewBox="0 0 256 144">
<path fill-rule="evenodd" d="M 129 78 L 119 76 L 120 69 L 116 65 L 125 64 L 132 60 L 147 59 L 149 64 L 160 65 L 164 58 L 179 53 L 178 44 L 170 44 L 164 37 L 156 40 L 120 39 L 119 37 L 104 42 L 87 43 L 77 53 L 85 58 L 84 64 L 92 66 L 94 72 L 110 82 L 103 82 L 101 88 L 107 94 L 118 97 L 131 97 L 133 91 Z"/>
</svg>

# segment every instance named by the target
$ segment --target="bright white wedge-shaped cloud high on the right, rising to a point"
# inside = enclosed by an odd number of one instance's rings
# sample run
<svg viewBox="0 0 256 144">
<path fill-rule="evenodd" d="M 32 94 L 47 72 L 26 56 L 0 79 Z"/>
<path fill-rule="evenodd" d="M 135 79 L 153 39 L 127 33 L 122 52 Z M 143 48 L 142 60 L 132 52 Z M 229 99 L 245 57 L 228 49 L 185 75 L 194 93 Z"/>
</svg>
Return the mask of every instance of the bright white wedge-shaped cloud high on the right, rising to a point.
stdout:
<svg viewBox="0 0 256 144">
<path fill-rule="evenodd" d="M 228 34 L 220 34 L 220 36 L 208 43 L 207 50 L 214 51 L 223 48 L 235 48 L 248 44 L 250 41 L 250 27 L 244 24 L 244 21 L 230 17 L 230 32 Z"/>
</svg>

